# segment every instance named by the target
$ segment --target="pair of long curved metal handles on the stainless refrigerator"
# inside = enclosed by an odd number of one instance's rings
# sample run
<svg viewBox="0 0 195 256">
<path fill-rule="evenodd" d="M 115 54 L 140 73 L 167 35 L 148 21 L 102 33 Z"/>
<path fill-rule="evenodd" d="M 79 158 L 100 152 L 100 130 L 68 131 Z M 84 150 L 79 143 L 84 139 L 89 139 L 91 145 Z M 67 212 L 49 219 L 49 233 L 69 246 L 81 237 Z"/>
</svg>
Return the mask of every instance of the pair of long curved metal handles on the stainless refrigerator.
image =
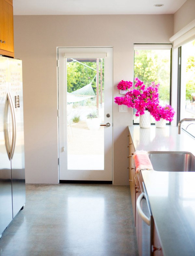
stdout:
<svg viewBox="0 0 195 256">
<path fill-rule="evenodd" d="M 11 112 L 11 119 L 12 119 L 12 140 L 10 144 L 9 140 L 9 133 L 8 133 L 8 107 L 10 107 Z M 15 119 L 15 112 L 13 107 L 13 102 L 10 93 L 6 95 L 6 102 L 4 107 L 4 137 L 5 137 L 5 144 L 6 144 L 6 151 L 9 160 L 13 158 L 14 149 L 16 145 L 16 119 Z"/>
</svg>

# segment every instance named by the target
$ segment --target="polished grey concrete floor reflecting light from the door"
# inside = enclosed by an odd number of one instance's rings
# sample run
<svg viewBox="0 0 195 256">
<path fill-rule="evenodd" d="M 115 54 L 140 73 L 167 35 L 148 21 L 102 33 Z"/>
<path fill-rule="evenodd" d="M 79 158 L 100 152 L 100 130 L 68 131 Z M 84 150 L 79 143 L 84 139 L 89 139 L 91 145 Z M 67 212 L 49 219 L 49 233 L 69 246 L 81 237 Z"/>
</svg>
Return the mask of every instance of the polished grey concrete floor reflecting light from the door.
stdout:
<svg viewBox="0 0 195 256">
<path fill-rule="evenodd" d="M 129 187 L 27 184 L 0 255 L 137 256 Z"/>
</svg>

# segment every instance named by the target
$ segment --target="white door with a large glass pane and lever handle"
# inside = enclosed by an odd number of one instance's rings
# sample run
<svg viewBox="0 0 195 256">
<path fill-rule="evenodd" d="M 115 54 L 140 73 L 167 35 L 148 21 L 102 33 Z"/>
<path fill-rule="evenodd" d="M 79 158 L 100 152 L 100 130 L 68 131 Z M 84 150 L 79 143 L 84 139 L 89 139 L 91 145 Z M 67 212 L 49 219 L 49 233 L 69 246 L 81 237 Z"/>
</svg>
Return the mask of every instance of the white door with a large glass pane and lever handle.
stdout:
<svg viewBox="0 0 195 256">
<path fill-rule="evenodd" d="M 59 48 L 59 180 L 112 180 L 112 48 Z"/>
</svg>

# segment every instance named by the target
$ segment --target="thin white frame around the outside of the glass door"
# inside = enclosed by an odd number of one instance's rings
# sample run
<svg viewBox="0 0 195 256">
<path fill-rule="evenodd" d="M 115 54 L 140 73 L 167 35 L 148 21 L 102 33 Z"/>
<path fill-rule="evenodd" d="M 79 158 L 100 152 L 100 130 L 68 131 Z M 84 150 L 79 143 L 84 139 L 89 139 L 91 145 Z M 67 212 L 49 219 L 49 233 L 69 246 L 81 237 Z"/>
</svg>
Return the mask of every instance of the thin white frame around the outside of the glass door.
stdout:
<svg viewBox="0 0 195 256">
<path fill-rule="evenodd" d="M 59 152 L 60 152 L 60 138 L 59 138 L 59 116 L 60 116 L 60 113 L 59 113 L 59 67 L 60 65 L 63 65 L 63 63 L 60 63 L 59 61 L 59 49 L 76 49 L 76 48 L 80 48 L 80 49 L 97 49 L 97 48 L 100 48 L 100 49 L 103 49 L 103 48 L 110 48 L 112 50 L 112 76 L 111 76 L 111 79 L 112 79 L 112 88 L 111 88 L 111 97 L 113 99 L 113 47 L 57 47 L 57 82 L 58 82 L 58 173 L 59 173 L 59 183 L 81 183 L 81 180 L 66 180 L 66 181 L 63 181 L 63 180 L 60 180 L 60 160 L 59 160 Z M 82 183 L 98 183 L 98 184 L 113 184 L 113 100 L 112 100 L 112 103 L 111 103 L 111 107 L 112 107 L 112 110 L 111 110 L 111 114 L 112 114 L 112 118 L 110 120 L 110 122 L 112 122 L 112 127 L 110 127 L 112 129 L 112 135 L 111 135 L 111 180 L 108 180 L 108 181 L 103 181 L 103 180 L 82 180 Z"/>
</svg>

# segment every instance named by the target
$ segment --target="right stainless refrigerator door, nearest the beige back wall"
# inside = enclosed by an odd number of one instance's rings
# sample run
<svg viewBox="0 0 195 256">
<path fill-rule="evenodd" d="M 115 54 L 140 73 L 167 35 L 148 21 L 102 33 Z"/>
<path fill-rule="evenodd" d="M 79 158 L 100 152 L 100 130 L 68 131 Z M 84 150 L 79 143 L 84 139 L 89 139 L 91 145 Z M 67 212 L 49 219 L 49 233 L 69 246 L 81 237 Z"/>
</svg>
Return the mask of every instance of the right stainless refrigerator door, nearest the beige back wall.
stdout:
<svg viewBox="0 0 195 256">
<path fill-rule="evenodd" d="M 8 89 L 12 97 L 16 120 L 16 142 L 13 157 L 11 159 L 13 201 L 12 204 L 14 218 L 26 201 L 24 167 L 22 61 L 17 59 L 9 59 L 8 73 Z"/>
</svg>

